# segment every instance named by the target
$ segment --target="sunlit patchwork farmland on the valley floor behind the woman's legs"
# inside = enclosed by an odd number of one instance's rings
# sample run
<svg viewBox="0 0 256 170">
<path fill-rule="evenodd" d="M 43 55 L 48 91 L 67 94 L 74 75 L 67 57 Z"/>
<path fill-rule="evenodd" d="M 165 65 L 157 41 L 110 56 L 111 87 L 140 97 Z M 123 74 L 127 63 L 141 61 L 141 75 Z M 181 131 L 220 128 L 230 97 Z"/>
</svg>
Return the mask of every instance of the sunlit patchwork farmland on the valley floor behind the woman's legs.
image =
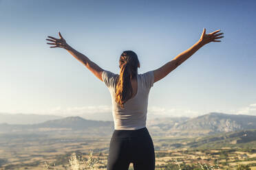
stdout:
<svg viewBox="0 0 256 170">
<path fill-rule="evenodd" d="M 72 153 L 98 158 L 97 169 L 106 169 L 111 136 L 83 136 L 82 133 L 1 135 L 0 169 L 69 169 Z M 193 138 L 152 136 L 156 153 L 156 169 L 195 169 L 198 162 L 219 165 L 221 169 L 236 169 L 238 165 L 256 167 L 256 149 L 252 143 L 243 147 L 186 147 Z M 178 144 L 182 144 L 182 147 Z M 211 145 L 211 144 L 210 144 Z M 212 145 L 214 147 L 214 145 Z M 55 165 L 55 166 L 54 166 Z M 130 165 L 132 167 L 132 164 Z M 132 169 L 132 168 L 130 168 Z"/>
</svg>

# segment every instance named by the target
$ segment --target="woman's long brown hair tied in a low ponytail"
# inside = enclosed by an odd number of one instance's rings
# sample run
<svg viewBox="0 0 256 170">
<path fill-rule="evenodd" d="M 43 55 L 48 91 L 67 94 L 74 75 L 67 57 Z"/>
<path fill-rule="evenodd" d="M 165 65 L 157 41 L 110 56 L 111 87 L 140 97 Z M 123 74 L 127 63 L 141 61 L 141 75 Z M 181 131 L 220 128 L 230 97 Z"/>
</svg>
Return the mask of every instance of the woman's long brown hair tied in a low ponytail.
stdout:
<svg viewBox="0 0 256 170">
<path fill-rule="evenodd" d="M 124 108 L 124 104 L 131 99 L 133 90 L 131 79 L 137 78 L 138 56 L 134 51 L 123 51 L 119 59 L 120 75 L 116 83 L 116 103 Z M 138 81 L 138 80 L 137 80 Z"/>
</svg>

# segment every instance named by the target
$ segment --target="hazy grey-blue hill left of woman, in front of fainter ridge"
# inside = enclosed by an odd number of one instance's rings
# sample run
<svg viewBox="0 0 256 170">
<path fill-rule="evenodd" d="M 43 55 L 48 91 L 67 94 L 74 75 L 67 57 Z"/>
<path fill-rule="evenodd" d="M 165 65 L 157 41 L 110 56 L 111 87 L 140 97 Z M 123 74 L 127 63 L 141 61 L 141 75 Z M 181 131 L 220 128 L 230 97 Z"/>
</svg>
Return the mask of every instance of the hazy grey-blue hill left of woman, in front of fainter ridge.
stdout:
<svg viewBox="0 0 256 170">
<path fill-rule="evenodd" d="M 8 123 L 0 124 L 1 133 L 74 133 L 76 131 L 84 134 L 110 134 L 114 130 L 114 123 L 111 121 L 92 121 L 81 117 L 65 117 L 45 121 L 43 123 L 34 123 L 31 125 L 10 125 Z"/>
</svg>

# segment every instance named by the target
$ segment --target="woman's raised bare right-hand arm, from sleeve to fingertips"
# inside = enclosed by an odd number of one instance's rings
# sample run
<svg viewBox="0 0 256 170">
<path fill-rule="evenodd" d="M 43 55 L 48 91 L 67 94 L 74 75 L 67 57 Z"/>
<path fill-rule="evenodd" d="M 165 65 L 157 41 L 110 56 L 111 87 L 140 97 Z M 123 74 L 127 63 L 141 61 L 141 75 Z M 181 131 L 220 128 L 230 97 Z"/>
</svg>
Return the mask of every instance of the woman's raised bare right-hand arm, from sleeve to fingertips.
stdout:
<svg viewBox="0 0 256 170">
<path fill-rule="evenodd" d="M 218 29 L 215 32 L 211 32 L 210 34 L 206 34 L 205 32 L 206 32 L 206 29 L 204 28 L 204 31 L 202 32 L 200 40 L 198 40 L 198 42 L 196 42 L 192 47 L 190 47 L 186 51 L 183 51 L 178 56 L 176 56 L 173 60 L 161 66 L 159 69 L 154 70 L 153 71 L 154 82 L 157 82 L 158 80 L 161 80 L 163 77 L 167 76 L 171 71 L 176 69 L 180 64 L 182 64 L 182 62 L 184 62 L 186 59 L 192 56 L 193 53 L 198 51 L 198 49 L 200 49 L 204 45 L 208 44 L 209 42 L 221 42 L 220 40 L 217 40 L 217 39 L 224 37 L 224 36 L 220 36 L 223 33 L 216 34 L 217 32 L 220 32 L 220 29 Z"/>
</svg>

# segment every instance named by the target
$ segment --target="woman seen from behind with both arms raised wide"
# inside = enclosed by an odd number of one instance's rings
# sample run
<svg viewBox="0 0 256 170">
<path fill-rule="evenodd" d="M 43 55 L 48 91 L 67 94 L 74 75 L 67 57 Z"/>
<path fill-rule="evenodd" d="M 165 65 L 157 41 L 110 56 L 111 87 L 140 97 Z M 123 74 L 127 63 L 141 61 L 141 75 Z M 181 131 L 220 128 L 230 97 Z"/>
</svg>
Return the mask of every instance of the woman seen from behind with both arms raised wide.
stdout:
<svg viewBox="0 0 256 170">
<path fill-rule="evenodd" d="M 138 74 L 140 62 L 136 53 L 123 51 L 119 60 L 119 75 L 101 69 L 87 56 L 67 45 L 60 32 L 58 32 L 60 38 L 48 36 L 50 39 L 46 40 L 50 42 L 47 44 L 54 45 L 51 48 L 66 49 L 109 89 L 115 130 L 109 145 L 107 170 L 128 169 L 130 162 L 133 162 L 135 170 L 155 169 L 153 141 L 146 127 L 149 90 L 155 82 L 168 75 L 202 46 L 209 42 L 220 42 L 217 39 L 223 38 L 222 34 L 220 29 L 206 34 L 204 28 L 200 40 L 195 45 L 159 69 L 143 74 Z"/>
</svg>

